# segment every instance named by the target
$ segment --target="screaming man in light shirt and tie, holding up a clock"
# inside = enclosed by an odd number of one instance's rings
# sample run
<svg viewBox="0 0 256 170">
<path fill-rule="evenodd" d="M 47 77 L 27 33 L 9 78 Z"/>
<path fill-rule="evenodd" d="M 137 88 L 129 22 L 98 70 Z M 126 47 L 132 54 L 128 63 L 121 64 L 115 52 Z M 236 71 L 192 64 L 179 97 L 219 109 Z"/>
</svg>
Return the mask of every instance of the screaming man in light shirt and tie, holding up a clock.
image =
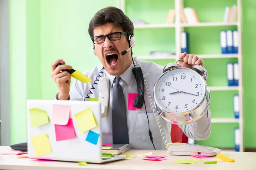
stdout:
<svg viewBox="0 0 256 170">
<path fill-rule="evenodd" d="M 103 141 L 116 143 L 118 139 L 124 139 L 124 142 L 121 142 L 129 143 L 132 149 L 154 149 L 154 147 L 158 150 L 166 149 L 163 136 L 159 132 L 159 126 L 152 113 L 152 101 L 148 98 L 147 94 L 144 97 L 145 104 L 143 108 L 140 110 L 128 109 L 128 94 L 137 93 L 137 82 L 132 73 L 132 69 L 134 68 L 132 51 L 128 50 L 123 56 L 120 53 L 131 47 L 130 40 L 128 39 L 134 35 L 133 23 L 120 9 L 108 7 L 98 11 L 94 15 L 90 21 L 88 31 L 90 37 L 92 37 L 94 53 L 98 56 L 102 65 L 96 66 L 91 71 L 84 72 L 93 81 L 82 83 L 75 79 L 70 89 L 70 74 L 67 71 L 61 72 L 61 70 L 71 69 L 72 67 L 66 65 L 62 59 L 52 62 L 52 78 L 58 87 L 56 99 L 85 100 L 87 95 L 91 98 L 97 98 L 99 96 L 99 89 L 97 85 L 93 85 L 93 82 L 96 80 L 103 66 L 105 71 L 103 71 L 101 76 L 107 77 L 110 80 L 108 113 L 102 118 Z M 191 68 L 192 65 L 204 65 L 202 59 L 191 54 L 180 54 L 179 59 L 183 59 L 183 62 L 180 62 L 181 67 Z M 59 62 L 64 63 L 64 65 L 59 65 L 56 68 L 55 65 Z M 163 66 L 153 62 L 141 61 L 137 58 L 134 59 L 134 62 L 135 65 L 142 68 L 152 99 L 154 83 L 163 73 Z M 88 94 L 92 85 L 95 89 L 91 89 L 92 93 Z M 120 88 L 120 86 L 122 92 L 118 92 L 117 94 L 116 88 Z M 114 101 L 116 95 L 119 94 L 121 95 L 121 97 L 118 97 L 119 101 L 122 98 L 125 99 L 125 106 L 122 107 L 125 109 L 124 111 L 120 111 L 122 108 L 116 109 L 118 105 L 122 105 L 122 103 L 117 105 L 118 100 Z M 145 110 L 145 107 L 147 110 Z M 119 113 L 117 114 L 116 111 L 119 111 Z M 148 116 L 145 114 L 146 111 Z M 119 116 L 123 114 L 126 115 L 120 118 Z M 123 119 L 125 119 L 124 122 L 122 122 Z M 154 147 L 148 135 L 148 122 Z M 122 124 L 121 126 L 118 125 L 120 123 Z M 163 119 L 160 119 L 160 123 L 167 142 L 171 142 L 170 124 Z M 211 113 L 208 111 L 207 114 L 196 122 L 179 126 L 189 138 L 195 140 L 207 139 L 211 130 Z"/>
</svg>

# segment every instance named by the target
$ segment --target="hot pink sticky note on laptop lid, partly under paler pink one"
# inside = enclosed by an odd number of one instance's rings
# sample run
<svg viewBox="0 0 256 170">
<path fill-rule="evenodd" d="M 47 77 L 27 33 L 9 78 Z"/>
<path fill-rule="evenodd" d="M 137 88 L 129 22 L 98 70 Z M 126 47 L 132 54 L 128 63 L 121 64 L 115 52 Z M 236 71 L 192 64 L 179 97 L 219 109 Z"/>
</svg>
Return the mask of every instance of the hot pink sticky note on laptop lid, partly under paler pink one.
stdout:
<svg viewBox="0 0 256 170">
<path fill-rule="evenodd" d="M 73 126 L 72 119 L 69 119 L 67 125 L 54 125 L 56 141 L 76 138 L 76 132 Z"/>
</svg>

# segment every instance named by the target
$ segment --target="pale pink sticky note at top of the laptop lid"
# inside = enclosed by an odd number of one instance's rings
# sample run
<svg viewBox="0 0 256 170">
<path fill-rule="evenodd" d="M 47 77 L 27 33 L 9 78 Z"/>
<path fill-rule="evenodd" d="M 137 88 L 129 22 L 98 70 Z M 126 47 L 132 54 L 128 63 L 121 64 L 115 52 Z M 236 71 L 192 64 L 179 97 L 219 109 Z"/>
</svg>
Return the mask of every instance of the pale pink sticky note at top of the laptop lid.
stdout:
<svg viewBox="0 0 256 170">
<path fill-rule="evenodd" d="M 53 104 L 51 124 L 67 125 L 69 117 L 70 117 L 70 106 L 69 105 Z"/>
</svg>

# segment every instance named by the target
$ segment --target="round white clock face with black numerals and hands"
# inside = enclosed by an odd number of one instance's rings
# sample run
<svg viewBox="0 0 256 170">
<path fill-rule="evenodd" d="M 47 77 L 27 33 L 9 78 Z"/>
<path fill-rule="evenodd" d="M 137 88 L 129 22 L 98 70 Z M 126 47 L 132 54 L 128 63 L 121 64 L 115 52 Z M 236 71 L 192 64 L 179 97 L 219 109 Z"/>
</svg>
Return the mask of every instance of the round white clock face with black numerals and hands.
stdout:
<svg viewBox="0 0 256 170">
<path fill-rule="evenodd" d="M 205 90 L 204 79 L 195 71 L 175 68 L 158 79 L 154 97 L 164 111 L 183 113 L 200 104 Z"/>
</svg>

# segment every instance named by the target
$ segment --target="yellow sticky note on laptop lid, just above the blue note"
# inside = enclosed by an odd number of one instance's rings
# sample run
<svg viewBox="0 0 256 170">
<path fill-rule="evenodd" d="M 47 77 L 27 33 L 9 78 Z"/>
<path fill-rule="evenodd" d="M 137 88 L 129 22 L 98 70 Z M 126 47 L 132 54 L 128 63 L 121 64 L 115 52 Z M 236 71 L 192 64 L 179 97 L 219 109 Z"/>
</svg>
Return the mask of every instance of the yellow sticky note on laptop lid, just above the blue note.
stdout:
<svg viewBox="0 0 256 170">
<path fill-rule="evenodd" d="M 93 111 L 90 108 L 85 109 L 75 115 L 76 122 L 80 133 L 84 133 L 97 126 L 96 119 L 93 115 Z"/>
</svg>

